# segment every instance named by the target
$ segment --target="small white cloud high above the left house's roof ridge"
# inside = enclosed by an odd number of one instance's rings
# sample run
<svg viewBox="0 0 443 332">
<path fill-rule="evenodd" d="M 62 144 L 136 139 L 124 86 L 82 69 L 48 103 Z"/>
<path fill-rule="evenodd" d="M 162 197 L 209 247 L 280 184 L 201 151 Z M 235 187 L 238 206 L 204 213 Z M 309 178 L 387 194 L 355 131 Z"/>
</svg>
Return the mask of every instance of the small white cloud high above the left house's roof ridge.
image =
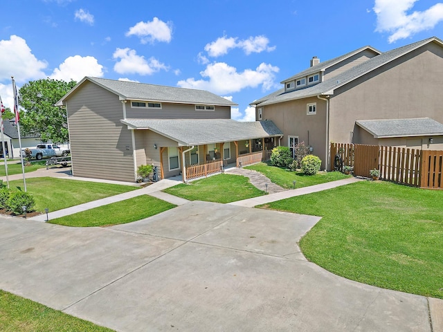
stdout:
<svg viewBox="0 0 443 332">
<path fill-rule="evenodd" d="M 129 28 L 126 35 L 128 37 L 136 35 L 140 38 L 142 44 L 153 43 L 156 40 L 169 43 L 172 39 L 172 23 L 165 23 L 154 17 L 152 21 L 138 22 L 138 24 Z"/>
</svg>

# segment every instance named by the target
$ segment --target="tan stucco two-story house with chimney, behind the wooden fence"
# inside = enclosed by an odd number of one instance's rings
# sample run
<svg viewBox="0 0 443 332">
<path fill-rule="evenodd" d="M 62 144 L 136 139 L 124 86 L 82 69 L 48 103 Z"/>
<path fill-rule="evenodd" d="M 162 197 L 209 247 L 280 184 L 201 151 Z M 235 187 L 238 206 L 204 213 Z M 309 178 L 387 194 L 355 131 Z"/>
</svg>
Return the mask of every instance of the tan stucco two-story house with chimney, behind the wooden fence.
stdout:
<svg viewBox="0 0 443 332">
<path fill-rule="evenodd" d="M 325 62 L 313 57 L 281 84 L 251 103 L 256 120 L 272 120 L 283 131 L 282 145 L 304 141 L 324 168 L 331 142 L 443 149 L 437 37 L 384 53 L 365 46 Z"/>
</svg>

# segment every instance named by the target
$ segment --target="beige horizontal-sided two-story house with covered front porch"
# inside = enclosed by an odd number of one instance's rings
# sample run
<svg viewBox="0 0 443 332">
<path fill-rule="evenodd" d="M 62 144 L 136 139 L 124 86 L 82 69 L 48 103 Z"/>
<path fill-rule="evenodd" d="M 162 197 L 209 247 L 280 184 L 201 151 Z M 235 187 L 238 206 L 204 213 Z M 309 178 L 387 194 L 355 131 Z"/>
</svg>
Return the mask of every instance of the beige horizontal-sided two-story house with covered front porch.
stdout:
<svg viewBox="0 0 443 332">
<path fill-rule="evenodd" d="M 135 181 L 153 164 L 161 178 L 186 180 L 190 165 L 264 154 L 282 136 L 271 120 L 231 120 L 234 102 L 195 89 L 84 77 L 57 105 L 66 107 L 74 176 Z"/>
</svg>

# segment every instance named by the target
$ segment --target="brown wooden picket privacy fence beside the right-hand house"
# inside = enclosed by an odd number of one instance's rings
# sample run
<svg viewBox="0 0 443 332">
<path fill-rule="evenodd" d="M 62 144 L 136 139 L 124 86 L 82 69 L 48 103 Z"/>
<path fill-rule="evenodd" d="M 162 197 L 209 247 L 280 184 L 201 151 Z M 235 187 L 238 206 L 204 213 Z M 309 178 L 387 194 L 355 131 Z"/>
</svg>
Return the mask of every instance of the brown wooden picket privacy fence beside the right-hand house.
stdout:
<svg viewBox="0 0 443 332">
<path fill-rule="evenodd" d="M 383 180 L 443 189 L 443 151 L 332 143 L 331 170 L 341 171 L 345 165 L 356 176 L 368 177 L 370 169 L 379 169 Z"/>
</svg>

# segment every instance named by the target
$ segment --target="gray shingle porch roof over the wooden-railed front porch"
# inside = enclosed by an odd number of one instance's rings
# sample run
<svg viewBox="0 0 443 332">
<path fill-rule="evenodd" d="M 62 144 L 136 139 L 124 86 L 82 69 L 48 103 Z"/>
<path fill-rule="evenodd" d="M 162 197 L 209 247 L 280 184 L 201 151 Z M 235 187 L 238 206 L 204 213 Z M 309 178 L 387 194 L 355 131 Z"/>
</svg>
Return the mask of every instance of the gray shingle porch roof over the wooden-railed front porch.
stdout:
<svg viewBox="0 0 443 332">
<path fill-rule="evenodd" d="M 231 119 L 124 119 L 121 122 L 132 129 L 150 129 L 183 146 L 283 135 L 269 120 L 239 122 Z"/>
</svg>

